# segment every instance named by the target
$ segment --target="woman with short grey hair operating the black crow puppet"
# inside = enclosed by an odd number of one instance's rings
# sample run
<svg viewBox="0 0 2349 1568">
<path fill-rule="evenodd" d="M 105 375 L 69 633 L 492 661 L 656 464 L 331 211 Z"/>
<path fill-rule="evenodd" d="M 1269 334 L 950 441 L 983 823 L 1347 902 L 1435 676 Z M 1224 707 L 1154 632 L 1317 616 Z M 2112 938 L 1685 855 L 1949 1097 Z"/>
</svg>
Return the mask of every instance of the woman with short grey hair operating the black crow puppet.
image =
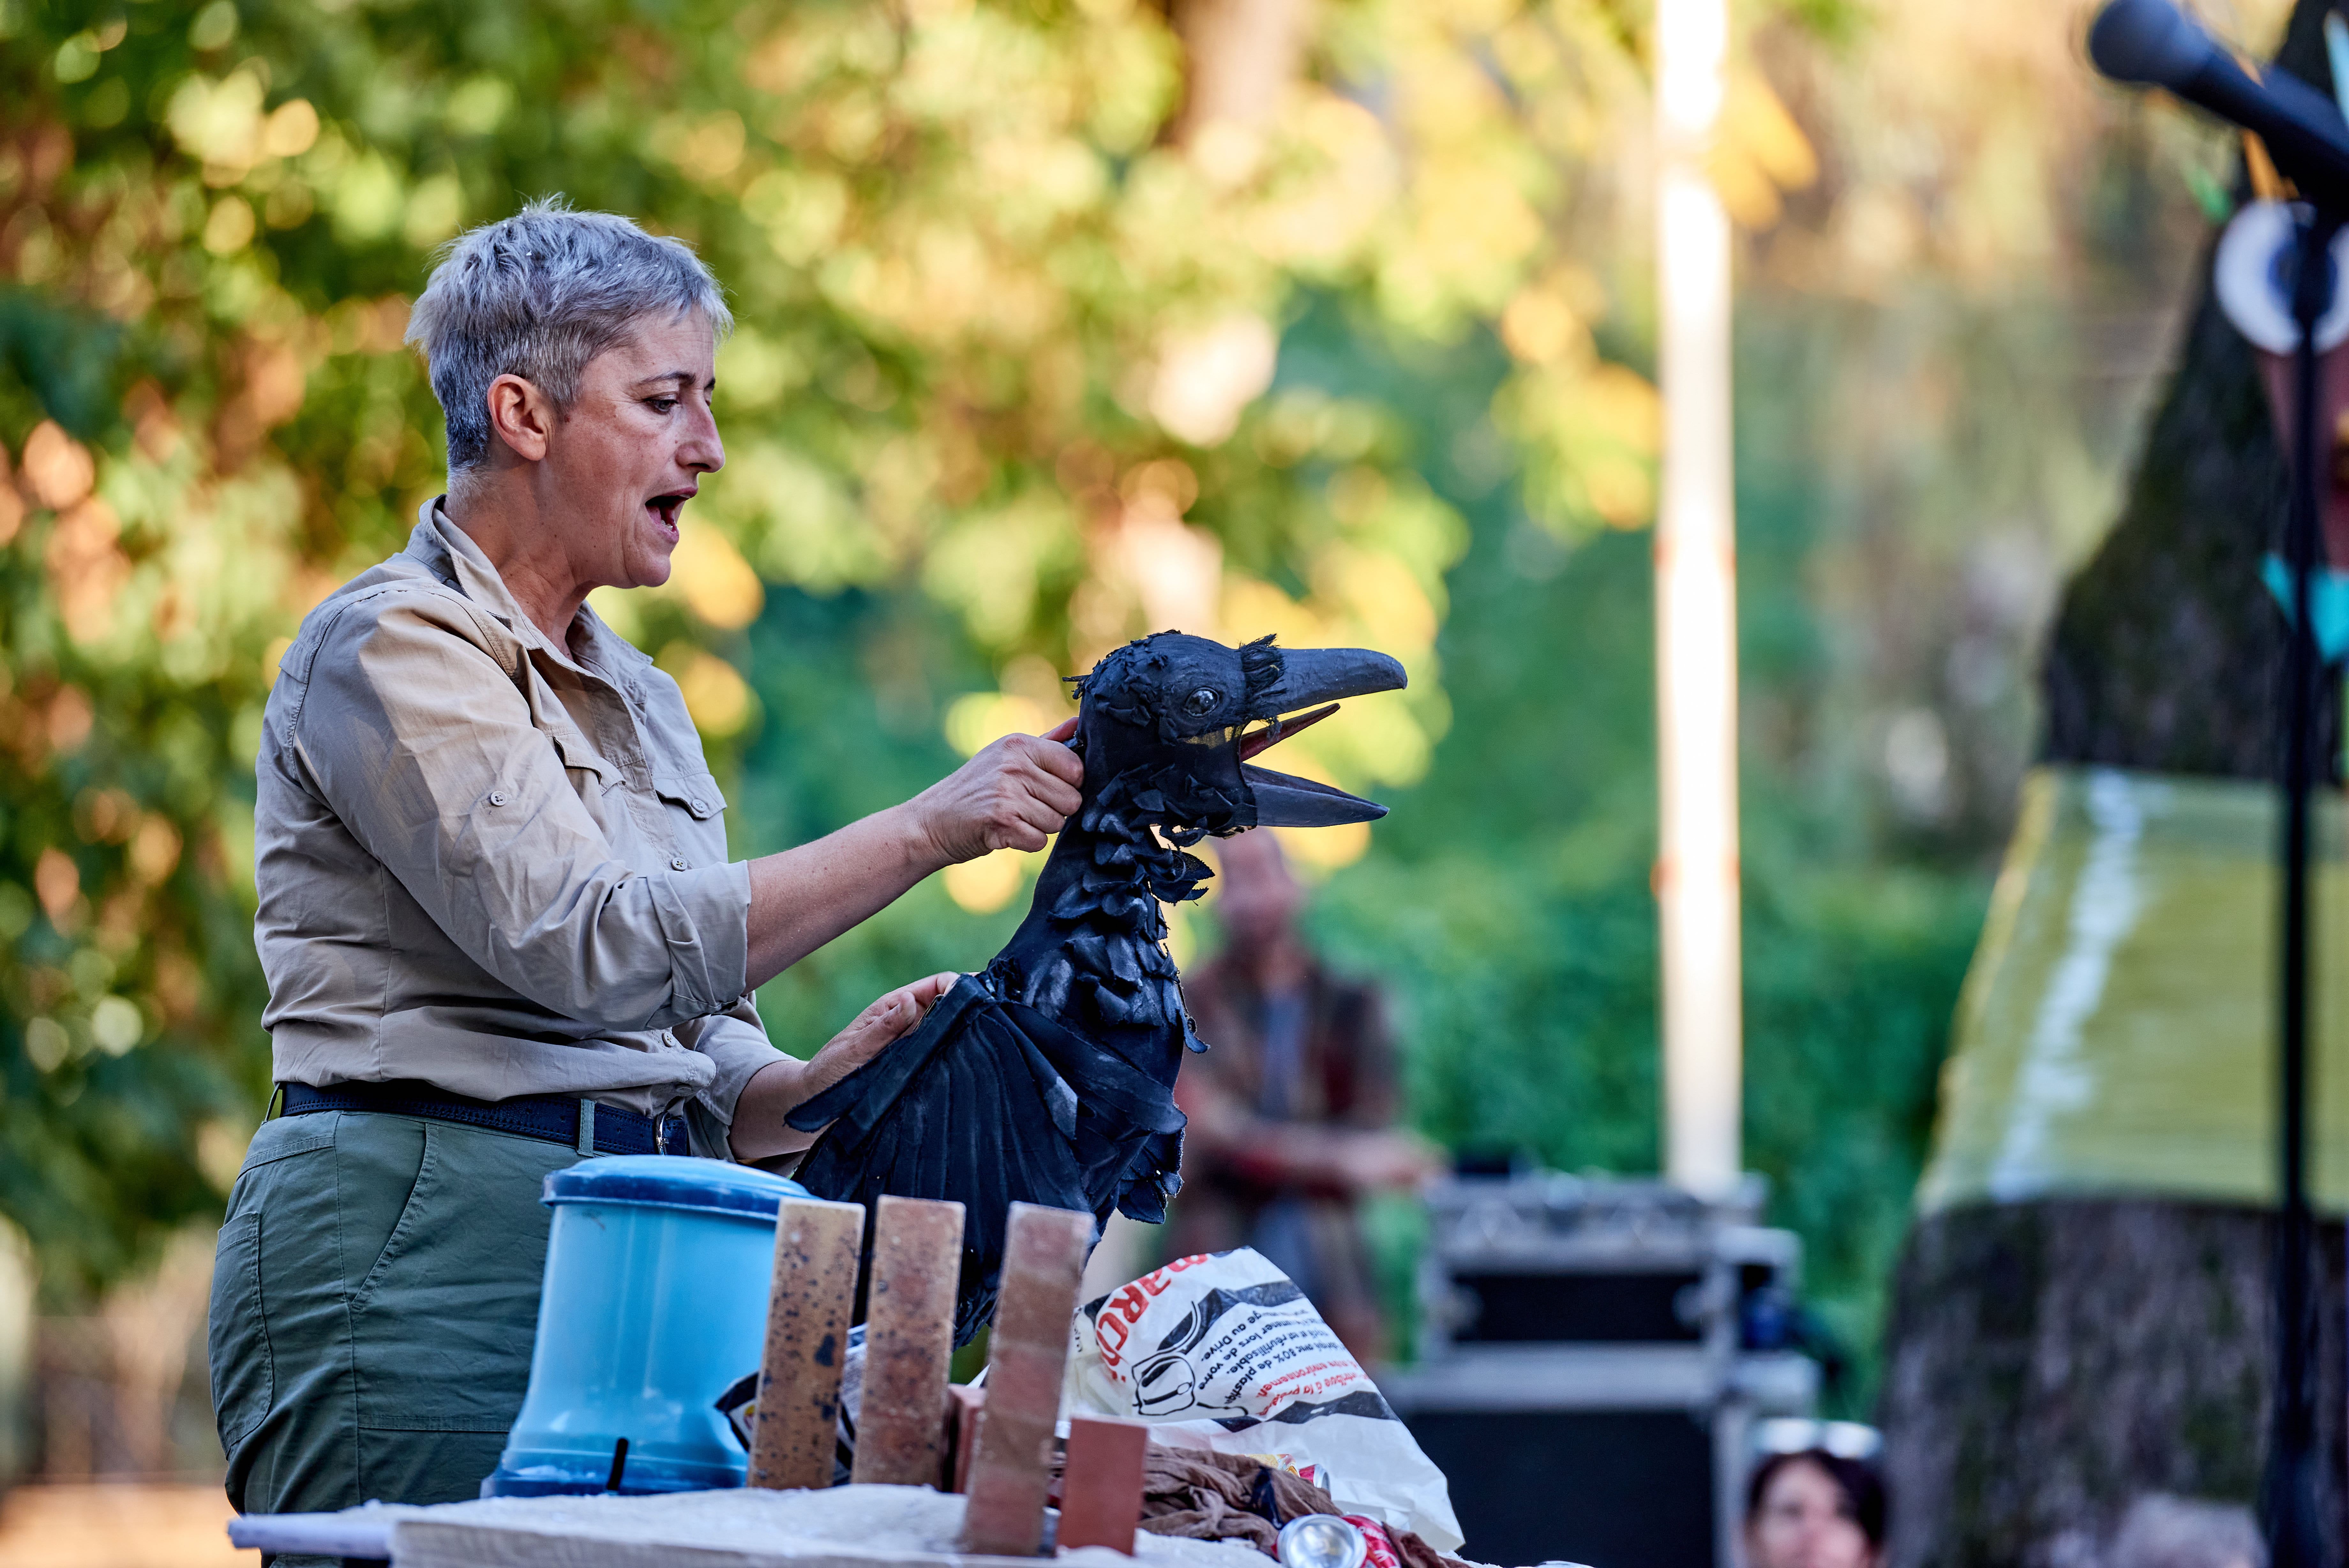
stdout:
<svg viewBox="0 0 2349 1568">
<path fill-rule="evenodd" d="M 731 324 L 688 247 L 557 202 L 456 240 L 416 301 L 449 494 L 310 611 L 261 738 L 282 1114 L 230 1192 L 211 1298 L 242 1512 L 477 1495 L 529 1380 L 540 1180 L 597 1152 L 803 1150 L 785 1114 L 954 976 L 808 1060 L 768 1044 L 752 992 L 1078 804 L 1059 731 L 1008 736 L 902 806 L 728 860 L 677 682 L 587 595 L 667 581 L 726 461 Z"/>
</svg>

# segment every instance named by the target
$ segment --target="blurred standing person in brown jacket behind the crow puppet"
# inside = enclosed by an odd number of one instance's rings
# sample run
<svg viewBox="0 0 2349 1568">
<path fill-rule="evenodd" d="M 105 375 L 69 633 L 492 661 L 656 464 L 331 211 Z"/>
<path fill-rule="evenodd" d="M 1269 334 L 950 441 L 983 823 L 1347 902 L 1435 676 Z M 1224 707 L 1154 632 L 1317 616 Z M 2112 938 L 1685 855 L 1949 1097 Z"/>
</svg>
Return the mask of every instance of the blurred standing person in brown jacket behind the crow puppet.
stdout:
<svg viewBox="0 0 2349 1568">
<path fill-rule="evenodd" d="M 1203 1056 L 1174 1100 L 1182 1197 L 1174 1255 L 1252 1246 L 1313 1300 L 1358 1359 L 1388 1354 L 1360 1201 L 1440 1168 L 1395 1126 L 1400 1084 L 1377 987 L 1332 973 L 1297 919 L 1306 893 L 1266 830 L 1217 849 L 1224 952 L 1184 978 Z"/>
</svg>

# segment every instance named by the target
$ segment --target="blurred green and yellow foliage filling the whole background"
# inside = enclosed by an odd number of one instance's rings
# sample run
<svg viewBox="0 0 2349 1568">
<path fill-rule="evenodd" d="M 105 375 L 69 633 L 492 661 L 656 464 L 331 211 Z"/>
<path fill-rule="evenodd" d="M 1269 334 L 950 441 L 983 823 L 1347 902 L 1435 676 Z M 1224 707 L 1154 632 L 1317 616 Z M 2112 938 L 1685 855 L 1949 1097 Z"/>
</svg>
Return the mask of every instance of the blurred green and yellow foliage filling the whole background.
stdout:
<svg viewBox="0 0 2349 1568">
<path fill-rule="evenodd" d="M 1785 101 L 1743 68 L 1715 155 L 1762 296 L 1750 1150 L 1863 1338 L 2027 745 L 2034 583 L 2093 536 L 2126 423 L 2072 306 L 2135 308 L 2180 205 L 2044 12 L 1743 7 Z M 1285 748 L 1398 804 L 1377 849 L 1299 839 L 1327 940 L 1393 978 L 1431 1131 L 1649 1166 L 1640 26 L 0 0 L 0 1215 L 52 1300 L 235 1171 L 277 642 L 439 489 L 399 348 L 430 249 L 552 190 L 688 237 L 735 296 L 731 468 L 672 585 L 599 609 L 684 684 L 738 851 L 1048 722 L 1142 630 L 1384 646 L 1409 698 Z M 2051 174 L 2077 146 L 2119 148 L 2095 200 Z M 1980 658 L 1945 675 L 1952 644 Z M 778 1041 L 984 959 L 1029 875 L 958 867 L 796 966 Z"/>
</svg>

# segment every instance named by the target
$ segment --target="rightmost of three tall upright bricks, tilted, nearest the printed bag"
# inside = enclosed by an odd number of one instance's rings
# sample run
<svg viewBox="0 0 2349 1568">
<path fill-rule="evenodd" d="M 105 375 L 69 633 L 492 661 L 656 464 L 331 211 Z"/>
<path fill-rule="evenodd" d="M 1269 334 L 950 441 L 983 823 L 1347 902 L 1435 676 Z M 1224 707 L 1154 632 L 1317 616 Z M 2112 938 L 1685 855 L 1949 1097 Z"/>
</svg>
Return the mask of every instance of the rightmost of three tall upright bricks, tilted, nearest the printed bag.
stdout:
<svg viewBox="0 0 2349 1568">
<path fill-rule="evenodd" d="M 1043 1544 L 1052 1429 L 1069 1363 L 1076 1281 L 1092 1246 L 1092 1215 L 1012 1204 L 1003 1244 L 1003 1295 L 987 1345 L 987 1408 L 970 1458 L 963 1549 L 1034 1556 Z M 1128 1549 L 1132 1540 L 1128 1537 Z"/>
</svg>

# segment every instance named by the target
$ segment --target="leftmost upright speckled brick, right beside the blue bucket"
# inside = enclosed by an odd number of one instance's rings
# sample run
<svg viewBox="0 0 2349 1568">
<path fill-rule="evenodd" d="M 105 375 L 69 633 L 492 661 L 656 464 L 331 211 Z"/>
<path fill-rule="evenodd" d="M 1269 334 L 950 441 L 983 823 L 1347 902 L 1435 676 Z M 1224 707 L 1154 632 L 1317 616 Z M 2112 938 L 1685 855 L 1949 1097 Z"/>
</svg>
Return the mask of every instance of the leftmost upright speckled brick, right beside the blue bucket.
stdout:
<svg viewBox="0 0 2349 1568">
<path fill-rule="evenodd" d="M 766 1302 L 752 1486 L 832 1486 L 862 1241 L 862 1204 L 785 1199 L 775 1215 L 775 1284 Z"/>
</svg>

